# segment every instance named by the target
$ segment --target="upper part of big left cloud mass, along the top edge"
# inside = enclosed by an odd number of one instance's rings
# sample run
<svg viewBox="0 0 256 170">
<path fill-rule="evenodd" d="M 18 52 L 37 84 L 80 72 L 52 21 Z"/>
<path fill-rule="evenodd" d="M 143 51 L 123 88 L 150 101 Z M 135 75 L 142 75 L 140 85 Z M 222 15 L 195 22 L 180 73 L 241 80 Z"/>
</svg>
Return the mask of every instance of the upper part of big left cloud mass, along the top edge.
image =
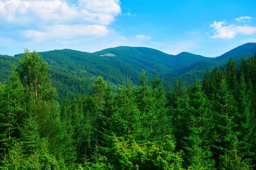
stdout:
<svg viewBox="0 0 256 170">
<path fill-rule="evenodd" d="M 8 23 L 66 24 L 89 21 L 108 25 L 120 13 L 119 0 L 79 0 L 78 6 L 68 6 L 63 0 L 0 0 L 0 18 Z"/>
</svg>

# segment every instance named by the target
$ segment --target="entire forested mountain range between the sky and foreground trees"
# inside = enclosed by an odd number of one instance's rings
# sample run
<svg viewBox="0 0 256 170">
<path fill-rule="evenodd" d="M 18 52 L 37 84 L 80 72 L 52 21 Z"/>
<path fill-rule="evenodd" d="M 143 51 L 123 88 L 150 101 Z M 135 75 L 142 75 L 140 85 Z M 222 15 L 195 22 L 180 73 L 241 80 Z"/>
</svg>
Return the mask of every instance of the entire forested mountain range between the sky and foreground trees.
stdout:
<svg viewBox="0 0 256 170">
<path fill-rule="evenodd" d="M 211 70 L 215 65 L 221 68 L 229 57 L 239 60 L 242 55 L 247 58 L 255 51 L 256 43 L 247 43 L 216 58 L 187 52 L 170 55 L 152 48 L 127 46 L 108 48 L 95 53 L 64 49 L 39 54 L 49 64 L 50 79 L 52 85 L 57 88 L 61 101 L 64 98 L 71 99 L 76 94 L 91 94 L 91 85 L 97 76 L 102 76 L 109 80 L 114 88 L 118 88 L 128 73 L 137 85 L 141 71 L 145 70 L 148 76 L 151 76 L 155 66 L 164 78 L 165 87 L 170 86 L 173 89 L 173 82 L 177 77 L 192 84 L 196 78 L 203 79 L 207 68 Z M 21 56 L 22 54 L 15 57 L 0 55 L 0 82 L 7 82 L 13 65 L 17 64 Z"/>
</svg>

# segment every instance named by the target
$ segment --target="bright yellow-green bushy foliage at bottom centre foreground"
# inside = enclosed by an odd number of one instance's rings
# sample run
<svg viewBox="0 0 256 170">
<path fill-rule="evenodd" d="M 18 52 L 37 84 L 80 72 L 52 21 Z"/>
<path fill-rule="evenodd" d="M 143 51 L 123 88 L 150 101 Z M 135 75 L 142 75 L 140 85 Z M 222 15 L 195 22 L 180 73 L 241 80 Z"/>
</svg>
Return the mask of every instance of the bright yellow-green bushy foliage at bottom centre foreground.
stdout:
<svg viewBox="0 0 256 170">
<path fill-rule="evenodd" d="M 115 135 L 106 136 L 106 138 L 111 141 L 111 146 L 105 153 L 111 169 L 182 169 L 181 154 L 175 153 L 175 142 L 172 136 L 165 136 L 162 141 L 148 142 L 143 145 Z"/>
</svg>

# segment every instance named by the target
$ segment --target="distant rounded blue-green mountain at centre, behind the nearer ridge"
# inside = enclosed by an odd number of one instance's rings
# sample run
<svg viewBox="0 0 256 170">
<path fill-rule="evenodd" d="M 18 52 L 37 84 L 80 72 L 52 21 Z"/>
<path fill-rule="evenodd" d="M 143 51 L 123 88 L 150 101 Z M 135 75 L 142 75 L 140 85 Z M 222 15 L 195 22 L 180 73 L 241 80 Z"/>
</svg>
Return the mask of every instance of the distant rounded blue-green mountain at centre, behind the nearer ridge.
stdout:
<svg viewBox="0 0 256 170">
<path fill-rule="evenodd" d="M 96 54 L 114 54 L 115 56 L 118 56 L 120 60 L 126 63 L 134 62 L 136 63 L 136 65 L 140 63 L 150 68 L 154 68 L 154 65 L 157 65 L 158 67 L 163 68 L 159 68 L 159 71 L 163 73 L 169 71 L 169 69 L 174 70 L 176 68 L 181 68 L 183 66 L 190 65 L 195 62 L 203 60 L 212 60 L 209 57 L 203 57 L 200 55 L 195 55 L 187 52 L 182 52 L 174 56 L 163 53 L 162 51 L 145 47 L 121 46 L 116 48 L 108 48 L 96 52 Z"/>
</svg>

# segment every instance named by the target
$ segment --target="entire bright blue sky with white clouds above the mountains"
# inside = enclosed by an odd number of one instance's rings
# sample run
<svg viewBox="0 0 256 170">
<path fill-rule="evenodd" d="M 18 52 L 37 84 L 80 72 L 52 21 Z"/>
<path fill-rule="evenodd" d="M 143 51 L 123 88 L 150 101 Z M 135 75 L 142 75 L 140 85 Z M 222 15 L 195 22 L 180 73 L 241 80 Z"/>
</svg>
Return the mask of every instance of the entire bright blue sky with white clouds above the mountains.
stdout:
<svg viewBox="0 0 256 170">
<path fill-rule="evenodd" d="M 255 0 L 0 0 L 0 54 L 121 45 L 219 56 L 256 42 Z"/>
</svg>

